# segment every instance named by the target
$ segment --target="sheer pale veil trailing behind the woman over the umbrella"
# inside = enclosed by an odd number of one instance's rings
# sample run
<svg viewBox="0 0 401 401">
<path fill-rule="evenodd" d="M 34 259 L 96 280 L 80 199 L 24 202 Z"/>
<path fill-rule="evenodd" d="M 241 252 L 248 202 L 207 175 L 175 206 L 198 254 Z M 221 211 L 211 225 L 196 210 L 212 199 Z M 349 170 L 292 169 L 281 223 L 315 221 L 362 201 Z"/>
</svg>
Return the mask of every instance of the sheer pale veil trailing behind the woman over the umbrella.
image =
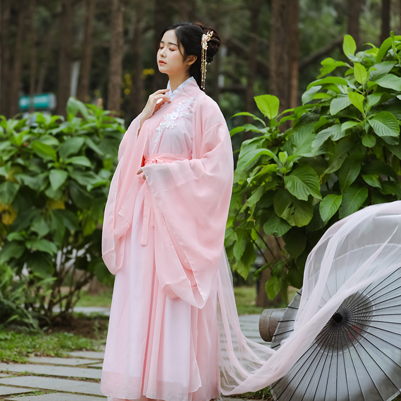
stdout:
<svg viewBox="0 0 401 401">
<path fill-rule="evenodd" d="M 218 277 L 222 393 L 257 391 L 286 375 L 346 298 L 400 267 L 401 201 L 335 223 L 307 258 L 294 331 L 273 350 L 242 334 L 224 253 Z"/>
</svg>

